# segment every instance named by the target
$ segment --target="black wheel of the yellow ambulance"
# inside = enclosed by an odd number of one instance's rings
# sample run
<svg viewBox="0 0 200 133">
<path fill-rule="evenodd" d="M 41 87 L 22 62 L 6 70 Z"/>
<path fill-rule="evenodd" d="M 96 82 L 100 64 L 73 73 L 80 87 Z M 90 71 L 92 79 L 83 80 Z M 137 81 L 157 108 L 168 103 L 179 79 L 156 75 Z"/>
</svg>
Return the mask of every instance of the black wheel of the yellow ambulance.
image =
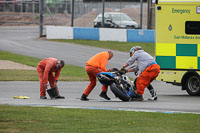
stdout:
<svg viewBox="0 0 200 133">
<path fill-rule="evenodd" d="M 200 78 L 198 75 L 188 76 L 185 82 L 186 91 L 191 96 L 200 95 Z"/>
</svg>

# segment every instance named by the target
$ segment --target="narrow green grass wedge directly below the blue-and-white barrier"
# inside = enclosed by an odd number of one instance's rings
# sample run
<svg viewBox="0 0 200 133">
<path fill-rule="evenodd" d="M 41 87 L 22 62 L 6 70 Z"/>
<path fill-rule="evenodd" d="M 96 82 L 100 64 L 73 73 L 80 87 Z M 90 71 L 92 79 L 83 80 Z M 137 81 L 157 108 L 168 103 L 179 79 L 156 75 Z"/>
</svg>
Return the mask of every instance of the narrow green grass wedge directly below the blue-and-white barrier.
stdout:
<svg viewBox="0 0 200 133">
<path fill-rule="evenodd" d="M 133 46 L 141 46 L 146 52 L 154 56 L 155 45 L 154 43 L 141 43 L 141 42 L 113 42 L 113 41 L 95 41 L 95 40 L 49 40 L 64 43 L 74 43 L 85 46 L 94 46 L 100 48 L 106 48 L 111 50 L 118 50 L 123 52 L 129 52 Z"/>
</svg>

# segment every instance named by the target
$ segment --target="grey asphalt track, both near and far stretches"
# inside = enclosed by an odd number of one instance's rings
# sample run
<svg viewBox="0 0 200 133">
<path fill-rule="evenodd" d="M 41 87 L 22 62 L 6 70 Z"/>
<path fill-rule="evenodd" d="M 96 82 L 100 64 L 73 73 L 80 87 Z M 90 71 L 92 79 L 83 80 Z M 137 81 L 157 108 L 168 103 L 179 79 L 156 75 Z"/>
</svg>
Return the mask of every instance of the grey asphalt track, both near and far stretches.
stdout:
<svg viewBox="0 0 200 133">
<path fill-rule="evenodd" d="M 96 52 L 106 50 L 38 39 L 38 29 L 38 27 L 0 27 L 0 50 L 39 58 L 50 56 L 61 58 L 68 64 L 82 67 L 85 61 Z M 114 51 L 110 67 L 119 68 L 126 61 L 127 56 L 128 53 Z M 101 92 L 99 83 L 89 95 L 90 101 L 80 101 L 80 96 L 87 84 L 88 82 L 59 82 L 60 93 L 66 98 L 51 100 L 48 97 L 46 100 L 41 100 L 38 82 L 2 81 L 0 82 L 0 104 L 200 114 L 199 97 L 191 97 L 180 87 L 164 82 L 152 83 L 157 91 L 158 101 L 146 100 L 150 96 L 146 90 L 143 102 L 122 102 L 115 98 L 110 90 L 108 95 L 111 100 L 104 100 L 98 96 Z M 30 99 L 14 99 L 14 96 L 29 96 Z"/>
</svg>

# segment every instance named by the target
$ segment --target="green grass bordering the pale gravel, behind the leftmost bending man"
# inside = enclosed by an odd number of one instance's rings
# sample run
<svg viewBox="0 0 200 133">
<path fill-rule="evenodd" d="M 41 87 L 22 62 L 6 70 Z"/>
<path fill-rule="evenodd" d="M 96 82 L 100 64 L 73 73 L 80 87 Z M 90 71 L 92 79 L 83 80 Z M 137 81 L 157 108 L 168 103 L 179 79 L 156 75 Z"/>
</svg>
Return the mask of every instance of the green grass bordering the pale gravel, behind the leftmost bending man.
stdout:
<svg viewBox="0 0 200 133">
<path fill-rule="evenodd" d="M 28 66 L 36 67 L 41 59 L 0 51 L 0 60 L 10 60 Z M 36 70 L 0 69 L 0 81 L 38 81 L 38 80 L 39 78 Z M 88 80 L 88 77 L 84 68 L 66 64 L 61 71 L 59 80 L 86 81 Z"/>
</svg>

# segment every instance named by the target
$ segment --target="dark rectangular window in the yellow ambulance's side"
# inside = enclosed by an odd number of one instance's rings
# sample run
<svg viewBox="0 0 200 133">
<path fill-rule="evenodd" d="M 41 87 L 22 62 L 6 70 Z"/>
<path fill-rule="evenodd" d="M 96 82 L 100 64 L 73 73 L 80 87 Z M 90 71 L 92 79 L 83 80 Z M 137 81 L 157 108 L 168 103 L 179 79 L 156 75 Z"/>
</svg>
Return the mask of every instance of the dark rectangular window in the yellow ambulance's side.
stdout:
<svg viewBox="0 0 200 133">
<path fill-rule="evenodd" d="M 200 21 L 186 21 L 185 33 L 186 34 L 200 34 Z"/>
</svg>

